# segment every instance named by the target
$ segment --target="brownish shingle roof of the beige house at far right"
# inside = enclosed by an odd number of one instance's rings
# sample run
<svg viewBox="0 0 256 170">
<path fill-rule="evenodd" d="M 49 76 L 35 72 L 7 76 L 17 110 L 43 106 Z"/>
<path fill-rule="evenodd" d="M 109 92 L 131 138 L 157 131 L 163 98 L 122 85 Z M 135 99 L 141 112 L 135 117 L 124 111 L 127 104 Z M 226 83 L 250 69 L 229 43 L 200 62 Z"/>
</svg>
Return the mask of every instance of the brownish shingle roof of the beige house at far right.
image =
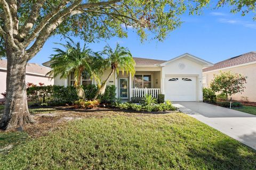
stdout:
<svg viewBox="0 0 256 170">
<path fill-rule="evenodd" d="M 219 63 L 214 64 L 211 67 L 207 67 L 203 69 L 203 72 L 218 70 L 225 67 L 256 62 L 256 52 L 249 52 L 242 55 L 238 55 L 236 57 L 229 58 L 228 60 L 221 61 Z"/>
</svg>

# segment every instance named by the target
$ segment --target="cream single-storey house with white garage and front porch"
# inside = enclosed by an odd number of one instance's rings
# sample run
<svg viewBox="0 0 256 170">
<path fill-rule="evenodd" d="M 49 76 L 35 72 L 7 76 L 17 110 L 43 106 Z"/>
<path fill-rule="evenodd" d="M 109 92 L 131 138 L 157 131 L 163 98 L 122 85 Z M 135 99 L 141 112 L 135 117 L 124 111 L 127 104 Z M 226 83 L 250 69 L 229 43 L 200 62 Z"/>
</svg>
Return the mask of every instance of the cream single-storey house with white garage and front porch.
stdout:
<svg viewBox="0 0 256 170">
<path fill-rule="evenodd" d="M 210 62 L 190 54 L 183 54 L 169 61 L 152 60 L 133 57 L 135 75 L 114 74 L 107 84 L 116 88 L 117 98 L 129 100 L 132 97 L 143 97 L 151 94 L 157 97 L 164 94 L 171 101 L 202 101 L 202 68 L 211 66 Z M 50 66 L 50 62 L 43 63 Z M 109 75 L 110 70 L 102 75 L 102 80 Z M 54 84 L 68 86 L 74 83 L 73 75 L 68 79 L 54 79 Z M 81 84 L 96 84 L 90 77 L 83 77 Z"/>
</svg>

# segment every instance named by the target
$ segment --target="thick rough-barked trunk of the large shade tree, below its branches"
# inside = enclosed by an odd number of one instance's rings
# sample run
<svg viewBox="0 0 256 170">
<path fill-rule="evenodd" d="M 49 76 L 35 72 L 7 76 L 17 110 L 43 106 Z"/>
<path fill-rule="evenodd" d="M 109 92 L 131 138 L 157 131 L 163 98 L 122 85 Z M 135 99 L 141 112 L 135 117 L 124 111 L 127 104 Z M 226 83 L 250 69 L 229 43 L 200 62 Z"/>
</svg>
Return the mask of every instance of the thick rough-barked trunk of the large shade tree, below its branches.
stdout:
<svg viewBox="0 0 256 170">
<path fill-rule="evenodd" d="M 7 51 L 6 55 L 6 99 L 4 114 L 0 121 L 0 128 L 3 130 L 34 122 L 28 112 L 27 104 L 25 50 Z"/>
</svg>

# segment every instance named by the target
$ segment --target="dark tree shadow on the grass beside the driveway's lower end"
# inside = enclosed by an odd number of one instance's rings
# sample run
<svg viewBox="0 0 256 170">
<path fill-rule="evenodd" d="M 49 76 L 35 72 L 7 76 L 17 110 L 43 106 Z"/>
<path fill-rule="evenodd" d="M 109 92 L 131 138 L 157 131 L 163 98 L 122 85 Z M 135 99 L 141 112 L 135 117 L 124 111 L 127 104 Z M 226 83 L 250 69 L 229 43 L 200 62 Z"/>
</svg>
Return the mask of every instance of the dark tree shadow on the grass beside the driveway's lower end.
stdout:
<svg viewBox="0 0 256 170">
<path fill-rule="evenodd" d="M 191 144 L 187 155 L 206 169 L 256 169 L 256 151 L 233 139 L 210 141 L 203 148 Z"/>
</svg>

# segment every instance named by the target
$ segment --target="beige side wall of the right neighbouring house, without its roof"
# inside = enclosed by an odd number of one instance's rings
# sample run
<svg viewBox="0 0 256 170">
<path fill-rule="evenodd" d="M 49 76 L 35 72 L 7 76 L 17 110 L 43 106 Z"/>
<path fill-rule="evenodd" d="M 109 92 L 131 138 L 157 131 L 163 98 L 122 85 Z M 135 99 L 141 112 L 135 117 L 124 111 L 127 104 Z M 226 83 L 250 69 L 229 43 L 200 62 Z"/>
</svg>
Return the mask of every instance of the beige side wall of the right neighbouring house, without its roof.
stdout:
<svg viewBox="0 0 256 170">
<path fill-rule="evenodd" d="M 240 73 L 245 76 L 247 76 L 247 83 L 245 84 L 245 90 L 242 92 L 242 94 L 235 94 L 232 96 L 235 100 L 241 100 L 241 97 L 248 97 L 250 101 L 256 102 L 256 64 L 250 64 L 250 65 L 243 65 L 243 66 L 237 66 L 229 69 L 223 68 L 221 70 L 222 72 L 235 72 Z M 203 84 L 204 87 L 210 87 L 210 83 L 214 77 L 214 74 L 219 74 L 220 70 L 218 71 L 210 71 L 210 72 L 204 72 L 203 73 Z"/>
</svg>

